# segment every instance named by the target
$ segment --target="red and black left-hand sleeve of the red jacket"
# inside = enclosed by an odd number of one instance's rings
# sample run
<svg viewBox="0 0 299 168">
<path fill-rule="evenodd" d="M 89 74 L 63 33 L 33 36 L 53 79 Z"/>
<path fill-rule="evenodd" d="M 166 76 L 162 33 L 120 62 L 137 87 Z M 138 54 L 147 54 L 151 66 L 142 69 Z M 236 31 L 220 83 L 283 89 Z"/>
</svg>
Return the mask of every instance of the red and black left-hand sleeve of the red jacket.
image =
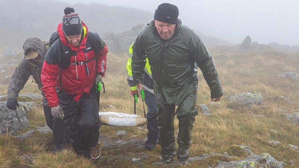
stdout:
<svg viewBox="0 0 299 168">
<path fill-rule="evenodd" d="M 57 47 L 51 46 L 49 48 L 40 77 L 43 84 L 42 90 L 50 107 L 59 105 L 59 98 L 55 90 L 56 79 L 59 73 L 58 54 L 59 50 Z"/>
</svg>

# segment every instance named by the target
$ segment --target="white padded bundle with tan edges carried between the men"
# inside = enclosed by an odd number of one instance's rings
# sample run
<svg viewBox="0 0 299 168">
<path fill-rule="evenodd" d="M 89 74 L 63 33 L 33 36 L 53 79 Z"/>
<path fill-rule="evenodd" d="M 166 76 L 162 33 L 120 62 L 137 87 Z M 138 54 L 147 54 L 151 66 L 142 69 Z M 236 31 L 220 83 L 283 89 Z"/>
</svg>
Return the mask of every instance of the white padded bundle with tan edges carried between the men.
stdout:
<svg viewBox="0 0 299 168">
<path fill-rule="evenodd" d="M 145 125 L 147 119 L 135 114 L 99 112 L 99 118 L 104 125 L 137 126 Z"/>
</svg>

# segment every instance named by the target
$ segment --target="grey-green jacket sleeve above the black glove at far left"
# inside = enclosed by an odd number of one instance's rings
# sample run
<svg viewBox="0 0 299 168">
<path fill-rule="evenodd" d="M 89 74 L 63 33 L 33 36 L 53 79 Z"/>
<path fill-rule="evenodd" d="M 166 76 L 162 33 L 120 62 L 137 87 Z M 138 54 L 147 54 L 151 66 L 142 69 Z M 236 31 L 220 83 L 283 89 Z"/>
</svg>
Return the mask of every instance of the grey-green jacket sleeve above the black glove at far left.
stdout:
<svg viewBox="0 0 299 168">
<path fill-rule="evenodd" d="M 13 76 L 11 77 L 11 80 L 9 82 L 7 99 L 18 98 L 19 92 L 24 88 L 24 85 L 26 84 L 30 75 L 31 73 L 28 69 L 28 62 L 25 58 L 23 58 L 14 71 Z"/>
</svg>

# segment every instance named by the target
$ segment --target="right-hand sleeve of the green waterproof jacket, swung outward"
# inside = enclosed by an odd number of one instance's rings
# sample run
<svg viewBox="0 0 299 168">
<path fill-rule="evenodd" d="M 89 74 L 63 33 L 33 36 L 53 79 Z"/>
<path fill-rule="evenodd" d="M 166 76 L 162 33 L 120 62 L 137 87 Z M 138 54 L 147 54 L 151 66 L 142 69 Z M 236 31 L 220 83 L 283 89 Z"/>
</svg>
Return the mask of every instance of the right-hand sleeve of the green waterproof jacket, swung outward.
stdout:
<svg viewBox="0 0 299 168">
<path fill-rule="evenodd" d="M 212 56 L 206 49 L 206 46 L 202 43 L 200 37 L 196 34 L 190 39 L 190 54 L 202 71 L 206 83 L 209 85 L 211 98 L 221 97 L 223 91 Z"/>
</svg>

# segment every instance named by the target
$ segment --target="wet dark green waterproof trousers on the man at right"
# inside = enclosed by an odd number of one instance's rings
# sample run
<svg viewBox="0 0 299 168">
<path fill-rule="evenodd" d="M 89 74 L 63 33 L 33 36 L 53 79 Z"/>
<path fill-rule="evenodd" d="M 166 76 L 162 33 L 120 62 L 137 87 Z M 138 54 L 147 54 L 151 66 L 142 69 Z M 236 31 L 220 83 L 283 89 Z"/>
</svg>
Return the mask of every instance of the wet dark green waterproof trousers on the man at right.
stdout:
<svg viewBox="0 0 299 168">
<path fill-rule="evenodd" d="M 165 104 L 163 108 L 158 105 L 157 121 L 162 156 L 170 157 L 176 155 L 173 124 L 175 114 L 179 120 L 178 145 L 182 149 L 189 149 L 195 116 L 198 115 L 198 109 L 195 106 L 196 98 L 196 92 L 187 95 L 176 110 L 175 104 Z"/>
</svg>

